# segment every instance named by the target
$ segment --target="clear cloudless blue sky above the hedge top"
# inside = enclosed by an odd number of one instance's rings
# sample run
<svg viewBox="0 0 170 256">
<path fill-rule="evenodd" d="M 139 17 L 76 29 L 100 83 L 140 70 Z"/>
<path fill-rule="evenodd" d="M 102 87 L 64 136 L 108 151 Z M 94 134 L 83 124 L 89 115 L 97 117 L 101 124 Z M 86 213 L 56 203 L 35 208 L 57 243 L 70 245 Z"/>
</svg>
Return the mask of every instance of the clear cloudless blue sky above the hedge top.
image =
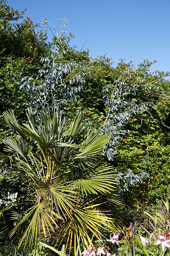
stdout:
<svg viewBox="0 0 170 256">
<path fill-rule="evenodd" d="M 137 64 L 158 60 L 153 70 L 170 71 L 170 0 L 8 0 L 14 9 L 27 9 L 34 23 L 43 18 L 55 28 L 59 18 L 69 20 L 77 50 L 96 57 L 108 52 Z M 50 35 L 51 36 L 51 35 Z M 50 37 L 49 37 L 50 38 Z"/>
</svg>

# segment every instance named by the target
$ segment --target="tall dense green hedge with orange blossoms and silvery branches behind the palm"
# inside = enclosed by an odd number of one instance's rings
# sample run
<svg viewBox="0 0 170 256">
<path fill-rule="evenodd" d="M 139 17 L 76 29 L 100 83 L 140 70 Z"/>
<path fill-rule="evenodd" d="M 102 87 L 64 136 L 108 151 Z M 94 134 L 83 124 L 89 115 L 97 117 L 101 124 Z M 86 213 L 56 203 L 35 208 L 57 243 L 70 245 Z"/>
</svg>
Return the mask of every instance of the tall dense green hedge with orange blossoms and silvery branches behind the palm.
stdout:
<svg viewBox="0 0 170 256">
<path fill-rule="evenodd" d="M 55 35 L 48 42 L 47 21 L 34 25 L 30 17 L 22 20 L 24 12 L 0 1 L 0 142 L 14 135 L 2 117 L 7 109 L 20 121 L 26 120 L 28 106 L 36 115 L 54 104 L 70 118 L 82 111 L 87 129 L 110 134 L 102 158 L 119 173 L 117 190 L 125 204 L 150 205 L 169 195 L 168 74 L 150 73 L 156 60 L 135 66 L 120 59 L 113 67 L 106 56 L 92 59 L 88 49 L 70 47 L 71 34 Z M 8 169 L 2 162 L 0 174 L 7 175 Z M 20 202 L 24 193 L 22 182 L 12 188 L 3 183 L 0 208 L 15 198 Z"/>
</svg>

